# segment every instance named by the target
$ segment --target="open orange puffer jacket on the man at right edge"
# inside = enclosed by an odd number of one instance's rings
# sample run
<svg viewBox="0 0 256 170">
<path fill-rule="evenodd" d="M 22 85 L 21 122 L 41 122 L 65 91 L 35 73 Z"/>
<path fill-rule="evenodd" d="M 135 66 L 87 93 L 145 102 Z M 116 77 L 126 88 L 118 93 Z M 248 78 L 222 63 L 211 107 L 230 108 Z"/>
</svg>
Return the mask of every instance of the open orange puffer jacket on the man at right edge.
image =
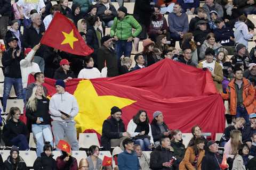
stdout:
<svg viewBox="0 0 256 170">
<path fill-rule="evenodd" d="M 256 102 L 254 99 L 255 89 L 252 84 L 245 78 L 243 78 L 243 105 L 245 106 L 248 114 L 256 111 Z M 231 80 L 227 87 L 227 94 L 221 94 L 224 100 L 230 100 L 230 114 L 236 115 L 236 89 L 235 79 Z"/>
</svg>

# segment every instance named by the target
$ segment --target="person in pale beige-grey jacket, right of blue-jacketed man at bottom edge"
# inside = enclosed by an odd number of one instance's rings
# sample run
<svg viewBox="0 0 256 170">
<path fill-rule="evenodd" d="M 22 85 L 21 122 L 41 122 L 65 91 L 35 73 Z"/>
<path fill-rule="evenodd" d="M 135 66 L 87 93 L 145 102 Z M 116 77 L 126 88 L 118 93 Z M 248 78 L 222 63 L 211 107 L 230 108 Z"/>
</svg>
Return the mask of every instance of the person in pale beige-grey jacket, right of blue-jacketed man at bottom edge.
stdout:
<svg viewBox="0 0 256 170">
<path fill-rule="evenodd" d="M 149 170 L 150 169 L 149 168 L 150 160 L 145 154 L 143 154 L 140 145 L 135 144 L 133 146 L 133 150 L 136 152 L 137 157 L 139 159 L 140 169 Z"/>
</svg>

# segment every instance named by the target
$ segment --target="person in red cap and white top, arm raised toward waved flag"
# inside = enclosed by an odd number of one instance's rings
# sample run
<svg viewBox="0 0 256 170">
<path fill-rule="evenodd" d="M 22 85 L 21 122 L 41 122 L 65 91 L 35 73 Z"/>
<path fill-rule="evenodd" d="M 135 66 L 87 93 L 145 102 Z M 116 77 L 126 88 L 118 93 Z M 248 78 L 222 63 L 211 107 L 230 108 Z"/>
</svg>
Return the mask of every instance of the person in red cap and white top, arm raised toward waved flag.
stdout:
<svg viewBox="0 0 256 170">
<path fill-rule="evenodd" d="M 26 48 L 25 58 L 20 61 L 20 71 L 21 71 L 21 78 L 22 78 L 24 103 L 26 103 L 26 89 L 27 89 L 29 74 L 35 75 L 35 73 L 41 72 L 38 64 L 33 62 L 34 55 L 39 48 L 40 48 L 40 44 L 36 45 L 33 49 Z"/>
</svg>

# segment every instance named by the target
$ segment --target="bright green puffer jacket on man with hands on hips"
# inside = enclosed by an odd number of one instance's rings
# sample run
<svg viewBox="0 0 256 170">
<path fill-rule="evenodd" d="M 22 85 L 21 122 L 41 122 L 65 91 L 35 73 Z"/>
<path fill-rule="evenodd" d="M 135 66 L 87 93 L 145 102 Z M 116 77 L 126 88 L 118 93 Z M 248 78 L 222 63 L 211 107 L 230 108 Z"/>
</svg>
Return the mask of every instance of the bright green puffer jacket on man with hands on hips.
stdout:
<svg viewBox="0 0 256 170">
<path fill-rule="evenodd" d="M 133 33 L 132 28 L 136 29 Z M 126 15 L 122 20 L 117 17 L 114 19 L 110 35 L 112 37 L 117 36 L 119 40 L 127 40 L 131 36 L 137 37 L 141 30 L 142 28 L 139 22 L 137 22 L 132 15 Z"/>
</svg>

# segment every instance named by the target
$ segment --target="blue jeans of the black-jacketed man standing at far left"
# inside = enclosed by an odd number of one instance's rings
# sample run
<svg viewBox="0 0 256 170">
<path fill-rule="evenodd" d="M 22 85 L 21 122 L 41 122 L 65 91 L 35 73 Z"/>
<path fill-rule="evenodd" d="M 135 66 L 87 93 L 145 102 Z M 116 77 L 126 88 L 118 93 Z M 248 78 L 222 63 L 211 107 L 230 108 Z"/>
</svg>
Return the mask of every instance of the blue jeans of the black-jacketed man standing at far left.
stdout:
<svg viewBox="0 0 256 170">
<path fill-rule="evenodd" d="M 23 99 L 21 78 L 5 77 L 4 78 L 4 94 L 3 94 L 4 111 L 6 108 L 7 99 L 9 98 L 9 94 L 10 94 L 12 86 L 14 86 L 14 89 L 16 91 L 17 99 Z"/>
</svg>

